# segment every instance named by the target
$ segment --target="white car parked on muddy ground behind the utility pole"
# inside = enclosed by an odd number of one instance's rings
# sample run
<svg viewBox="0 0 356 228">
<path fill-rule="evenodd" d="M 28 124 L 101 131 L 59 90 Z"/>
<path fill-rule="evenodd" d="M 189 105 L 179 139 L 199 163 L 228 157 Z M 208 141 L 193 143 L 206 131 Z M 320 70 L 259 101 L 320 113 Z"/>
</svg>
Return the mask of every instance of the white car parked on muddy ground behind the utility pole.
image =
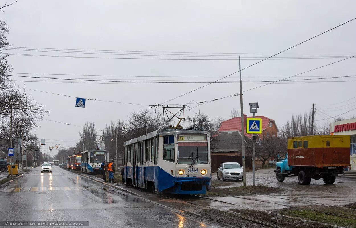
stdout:
<svg viewBox="0 0 356 228">
<path fill-rule="evenodd" d="M 241 165 L 237 162 L 221 163 L 218 169 L 218 180 L 242 180 L 244 172 Z"/>
</svg>

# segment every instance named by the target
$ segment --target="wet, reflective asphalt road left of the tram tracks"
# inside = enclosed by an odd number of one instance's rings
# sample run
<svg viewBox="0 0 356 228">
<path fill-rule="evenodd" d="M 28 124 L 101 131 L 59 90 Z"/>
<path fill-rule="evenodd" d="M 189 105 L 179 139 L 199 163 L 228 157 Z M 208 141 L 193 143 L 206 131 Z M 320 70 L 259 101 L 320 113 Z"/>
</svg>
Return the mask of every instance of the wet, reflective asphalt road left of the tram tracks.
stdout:
<svg viewBox="0 0 356 228">
<path fill-rule="evenodd" d="M 0 187 L 0 214 L 0 221 L 89 221 L 97 228 L 208 227 L 57 166 L 53 173 L 37 167 Z"/>
</svg>

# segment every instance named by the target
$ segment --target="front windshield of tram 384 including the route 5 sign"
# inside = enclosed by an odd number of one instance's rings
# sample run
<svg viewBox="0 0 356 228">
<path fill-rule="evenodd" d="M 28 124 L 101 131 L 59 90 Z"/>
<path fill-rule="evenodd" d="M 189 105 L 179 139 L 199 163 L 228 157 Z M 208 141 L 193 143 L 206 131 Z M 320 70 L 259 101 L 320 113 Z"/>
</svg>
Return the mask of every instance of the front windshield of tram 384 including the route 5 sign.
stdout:
<svg viewBox="0 0 356 228">
<path fill-rule="evenodd" d="M 177 157 L 179 164 L 207 164 L 208 141 L 206 134 L 178 135 Z"/>
</svg>

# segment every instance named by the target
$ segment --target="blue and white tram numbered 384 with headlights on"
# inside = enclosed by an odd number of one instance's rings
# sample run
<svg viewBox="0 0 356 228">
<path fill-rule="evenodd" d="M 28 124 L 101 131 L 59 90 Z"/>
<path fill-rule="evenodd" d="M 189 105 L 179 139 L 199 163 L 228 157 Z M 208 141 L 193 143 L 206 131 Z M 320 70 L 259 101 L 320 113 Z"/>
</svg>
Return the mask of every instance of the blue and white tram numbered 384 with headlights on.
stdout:
<svg viewBox="0 0 356 228">
<path fill-rule="evenodd" d="M 124 155 L 125 184 L 173 194 L 210 191 L 207 131 L 156 130 L 124 142 Z"/>
</svg>

